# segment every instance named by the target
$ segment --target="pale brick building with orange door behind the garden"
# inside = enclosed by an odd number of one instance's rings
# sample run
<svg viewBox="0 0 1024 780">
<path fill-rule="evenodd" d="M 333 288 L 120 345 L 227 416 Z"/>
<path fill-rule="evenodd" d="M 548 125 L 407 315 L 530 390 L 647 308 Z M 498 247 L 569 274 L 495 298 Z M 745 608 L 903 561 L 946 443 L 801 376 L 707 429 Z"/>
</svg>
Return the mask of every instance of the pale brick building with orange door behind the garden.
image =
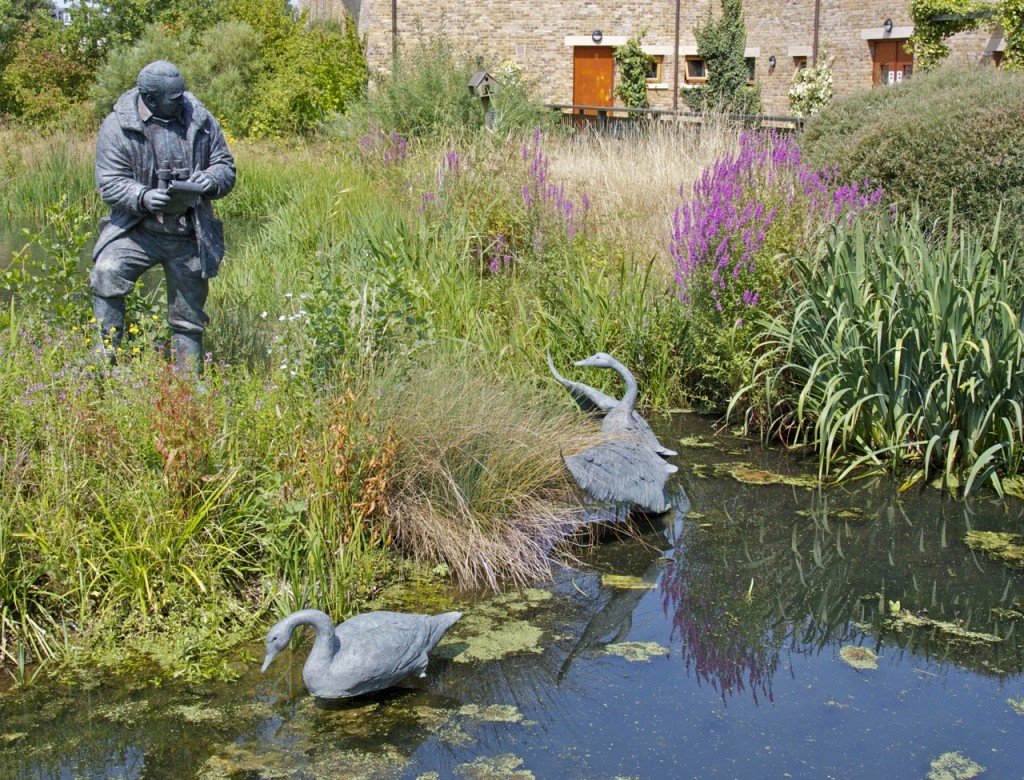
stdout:
<svg viewBox="0 0 1024 780">
<path fill-rule="evenodd" d="M 387 70 L 395 45 L 443 32 L 488 69 L 516 63 L 548 103 L 614 104 L 612 51 L 645 30 L 643 49 L 655 59 L 648 97 L 659 109 L 685 109 L 674 87 L 703 80 L 693 29 L 712 6 L 721 13 L 718 0 L 300 0 L 313 19 L 344 13 L 356 19 L 371 69 Z M 909 0 L 743 0 L 745 53 L 764 113 L 790 113 L 794 73 L 815 60 L 831 61 L 839 95 L 907 78 L 909 6 Z M 1001 35 L 985 31 L 947 44 L 950 59 L 961 63 L 997 64 L 1005 48 Z"/>
</svg>

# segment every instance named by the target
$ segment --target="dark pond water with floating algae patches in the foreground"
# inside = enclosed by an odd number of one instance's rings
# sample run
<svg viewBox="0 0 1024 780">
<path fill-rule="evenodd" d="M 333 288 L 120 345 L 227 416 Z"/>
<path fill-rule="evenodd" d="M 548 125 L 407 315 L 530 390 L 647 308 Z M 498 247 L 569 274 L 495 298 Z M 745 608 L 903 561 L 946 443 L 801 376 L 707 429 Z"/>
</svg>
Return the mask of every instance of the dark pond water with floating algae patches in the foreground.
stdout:
<svg viewBox="0 0 1024 780">
<path fill-rule="evenodd" d="M 1020 503 L 815 489 L 751 442 L 703 446 L 706 420 L 659 428 L 685 440 L 677 511 L 466 597 L 425 679 L 318 705 L 307 636 L 232 683 L 10 690 L 0 776 L 1024 775 L 1024 574 L 964 544 L 1020 532 Z"/>
</svg>

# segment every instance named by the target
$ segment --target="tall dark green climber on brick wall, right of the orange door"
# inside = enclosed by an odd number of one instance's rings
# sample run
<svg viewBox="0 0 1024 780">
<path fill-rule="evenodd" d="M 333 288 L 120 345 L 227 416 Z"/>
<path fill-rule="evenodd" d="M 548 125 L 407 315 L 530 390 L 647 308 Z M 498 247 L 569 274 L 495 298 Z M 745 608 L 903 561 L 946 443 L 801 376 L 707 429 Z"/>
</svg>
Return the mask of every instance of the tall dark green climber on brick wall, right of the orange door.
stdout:
<svg viewBox="0 0 1024 780">
<path fill-rule="evenodd" d="M 746 83 L 746 25 L 740 0 L 722 0 L 722 15 L 715 18 L 711 8 L 703 25 L 693 29 L 697 54 L 708 66 L 708 83 L 683 90 L 682 97 L 693 111 L 757 114 L 761 111 L 761 90 Z"/>
</svg>

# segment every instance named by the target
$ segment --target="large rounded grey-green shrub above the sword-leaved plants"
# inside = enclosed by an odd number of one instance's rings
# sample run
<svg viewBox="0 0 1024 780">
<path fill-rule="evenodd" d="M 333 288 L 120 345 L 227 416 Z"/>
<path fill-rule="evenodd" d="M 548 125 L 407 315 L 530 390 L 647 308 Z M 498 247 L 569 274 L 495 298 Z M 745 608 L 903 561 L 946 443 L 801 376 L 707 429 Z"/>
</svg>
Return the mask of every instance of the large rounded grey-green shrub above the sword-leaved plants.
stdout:
<svg viewBox="0 0 1024 780">
<path fill-rule="evenodd" d="M 1007 227 L 1024 232 L 1024 74 L 940 68 L 889 89 L 833 100 L 801 138 L 812 165 L 844 180 L 870 179 L 901 207 L 943 222 L 989 222 L 1001 202 Z"/>
</svg>

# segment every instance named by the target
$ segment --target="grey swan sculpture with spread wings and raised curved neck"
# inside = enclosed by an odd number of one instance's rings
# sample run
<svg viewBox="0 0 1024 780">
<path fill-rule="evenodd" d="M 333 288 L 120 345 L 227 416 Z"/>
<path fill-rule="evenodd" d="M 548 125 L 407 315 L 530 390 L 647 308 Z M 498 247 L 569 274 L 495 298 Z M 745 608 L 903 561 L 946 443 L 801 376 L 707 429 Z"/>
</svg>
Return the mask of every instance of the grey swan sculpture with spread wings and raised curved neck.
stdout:
<svg viewBox="0 0 1024 780">
<path fill-rule="evenodd" d="M 647 421 L 636 414 L 637 383 L 629 369 L 606 352 L 575 362 L 618 372 L 626 381 L 626 394 L 616 401 L 599 390 L 559 377 L 550 355 L 548 364 L 578 402 L 582 398 L 584 403 L 604 411 L 604 441 L 564 459 L 577 484 L 597 501 L 633 504 L 654 514 L 668 512 L 665 485 L 669 475 L 678 469 L 663 459 L 676 453 L 662 446 Z"/>
</svg>

